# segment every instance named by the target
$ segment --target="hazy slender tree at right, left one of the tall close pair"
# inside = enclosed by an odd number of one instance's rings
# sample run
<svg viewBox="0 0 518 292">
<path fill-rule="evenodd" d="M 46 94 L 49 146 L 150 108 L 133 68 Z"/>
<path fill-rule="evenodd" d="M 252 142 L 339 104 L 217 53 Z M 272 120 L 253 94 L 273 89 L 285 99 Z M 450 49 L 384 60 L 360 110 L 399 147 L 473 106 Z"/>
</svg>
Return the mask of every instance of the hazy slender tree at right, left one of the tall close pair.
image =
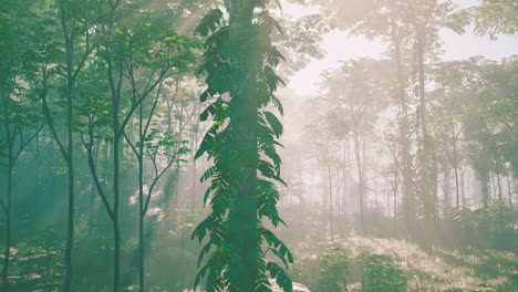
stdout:
<svg viewBox="0 0 518 292">
<path fill-rule="evenodd" d="M 408 27 L 410 1 L 391 0 L 354 0 L 338 2 L 334 11 L 334 22 L 353 35 L 365 35 L 369 39 L 381 39 L 390 46 L 388 53 L 395 67 L 392 82 L 392 96 L 398 107 L 398 150 L 402 157 L 403 176 L 403 218 L 406 230 L 416 230 L 417 222 L 417 191 L 415 185 L 415 169 L 412 159 L 412 100 L 408 96 L 408 60 L 404 58 L 410 51 L 411 28 Z M 358 8 L 358 9 L 356 9 Z M 352 12 L 354 11 L 354 12 Z"/>
</svg>

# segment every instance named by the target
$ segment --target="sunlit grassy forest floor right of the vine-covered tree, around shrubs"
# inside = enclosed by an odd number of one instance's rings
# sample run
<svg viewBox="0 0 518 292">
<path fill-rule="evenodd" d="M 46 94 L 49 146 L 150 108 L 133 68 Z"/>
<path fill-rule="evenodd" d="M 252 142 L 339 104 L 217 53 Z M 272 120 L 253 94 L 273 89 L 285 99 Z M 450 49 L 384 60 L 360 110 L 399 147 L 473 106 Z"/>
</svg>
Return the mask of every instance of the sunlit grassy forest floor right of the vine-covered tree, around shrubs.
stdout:
<svg viewBox="0 0 518 292">
<path fill-rule="evenodd" d="M 307 241 L 310 242 L 310 241 Z M 348 254 L 349 291 L 361 291 L 361 253 L 384 254 L 394 259 L 407 279 L 408 291 L 433 292 L 516 292 L 518 291 L 518 255 L 496 250 L 472 248 L 422 248 L 397 239 L 367 238 L 350 234 L 323 244 L 300 243 L 292 248 L 297 267 L 293 280 L 314 286 L 319 273 L 319 259 L 325 247 L 340 246 Z M 310 268 L 312 267 L 312 268 Z M 308 269 L 313 270 L 307 273 Z M 304 282 L 305 281 L 305 282 Z M 317 290 L 312 290 L 317 291 Z"/>
</svg>

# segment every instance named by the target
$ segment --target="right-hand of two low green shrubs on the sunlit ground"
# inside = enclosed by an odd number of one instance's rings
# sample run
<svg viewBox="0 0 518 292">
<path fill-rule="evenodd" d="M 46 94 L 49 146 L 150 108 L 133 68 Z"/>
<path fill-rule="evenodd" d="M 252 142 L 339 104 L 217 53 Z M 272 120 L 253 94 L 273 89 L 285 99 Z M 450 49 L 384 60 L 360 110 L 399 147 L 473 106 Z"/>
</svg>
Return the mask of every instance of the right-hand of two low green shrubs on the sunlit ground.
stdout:
<svg viewBox="0 0 518 292">
<path fill-rule="evenodd" d="M 406 277 L 391 257 L 384 254 L 365 254 L 363 267 L 362 291 L 406 291 Z"/>
</svg>

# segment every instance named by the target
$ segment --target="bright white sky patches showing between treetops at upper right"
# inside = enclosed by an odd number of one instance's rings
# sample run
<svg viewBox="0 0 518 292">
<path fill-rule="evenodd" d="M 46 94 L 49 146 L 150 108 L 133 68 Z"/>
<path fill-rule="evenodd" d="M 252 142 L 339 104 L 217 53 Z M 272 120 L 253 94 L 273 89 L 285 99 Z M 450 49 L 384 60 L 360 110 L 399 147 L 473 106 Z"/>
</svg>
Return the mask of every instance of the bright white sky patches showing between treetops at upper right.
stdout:
<svg viewBox="0 0 518 292">
<path fill-rule="evenodd" d="M 462 7 L 475 4 L 476 0 L 458 0 Z M 294 18 L 314 13 L 315 9 L 283 3 L 283 11 Z M 490 41 L 488 36 L 477 36 L 469 29 L 464 35 L 444 31 L 442 33 L 442 59 L 445 61 L 468 59 L 475 55 L 484 55 L 487 59 L 500 60 L 518 54 L 518 38 L 500 35 L 497 41 Z M 300 95 L 317 95 L 319 93 L 320 75 L 325 70 L 335 67 L 341 60 L 356 58 L 379 59 L 385 51 L 382 42 L 367 41 L 364 38 L 348 38 L 343 31 L 332 31 L 324 35 L 321 48 L 327 52 L 322 60 L 312 61 L 304 70 L 290 79 L 288 88 L 293 88 Z"/>
</svg>

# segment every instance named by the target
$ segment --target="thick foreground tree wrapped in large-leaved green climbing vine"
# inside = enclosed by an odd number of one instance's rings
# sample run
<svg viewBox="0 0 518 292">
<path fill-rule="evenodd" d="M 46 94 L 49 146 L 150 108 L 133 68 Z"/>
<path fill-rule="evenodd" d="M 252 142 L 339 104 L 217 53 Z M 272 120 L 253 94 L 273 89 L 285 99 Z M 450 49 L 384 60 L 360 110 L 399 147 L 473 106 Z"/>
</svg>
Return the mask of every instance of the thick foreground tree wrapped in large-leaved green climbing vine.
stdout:
<svg viewBox="0 0 518 292">
<path fill-rule="evenodd" d="M 267 10 L 267 1 L 244 1 L 251 11 L 245 21 L 247 13 L 236 9 L 242 9 L 241 3 L 228 2 L 225 12 L 210 10 L 196 29 L 206 36 L 204 63 L 197 72 L 205 74 L 207 83 L 200 102 L 210 102 L 200 118 L 211 117 L 213 124 L 195 158 L 207 154 L 214 164 L 200 179 L 210 180 L 204 202 L 211 212 L 193 233 L 204 243 L 195 285 L 206 279 L 207 291 L 251 291 L 252 286 L 271 291 L 270 277 L 283 291 L 292 291 L 284 269 L 293 257 L 263 226 L 267 221 L 273 227 L 286 225 L 276 207 L 276 182 L 286 185 L 277 153 L 282 146 L 277 140 L 282 134 L 278 115 L 283 109 L 274 95 L 283 84 L 274 73 L 283 56 L 270 39 L 281 27 Z M 245 17 L 239 19 L 239 13 Z M 278 260 L 267 260 L 268 253 Z"/>
</svg>

